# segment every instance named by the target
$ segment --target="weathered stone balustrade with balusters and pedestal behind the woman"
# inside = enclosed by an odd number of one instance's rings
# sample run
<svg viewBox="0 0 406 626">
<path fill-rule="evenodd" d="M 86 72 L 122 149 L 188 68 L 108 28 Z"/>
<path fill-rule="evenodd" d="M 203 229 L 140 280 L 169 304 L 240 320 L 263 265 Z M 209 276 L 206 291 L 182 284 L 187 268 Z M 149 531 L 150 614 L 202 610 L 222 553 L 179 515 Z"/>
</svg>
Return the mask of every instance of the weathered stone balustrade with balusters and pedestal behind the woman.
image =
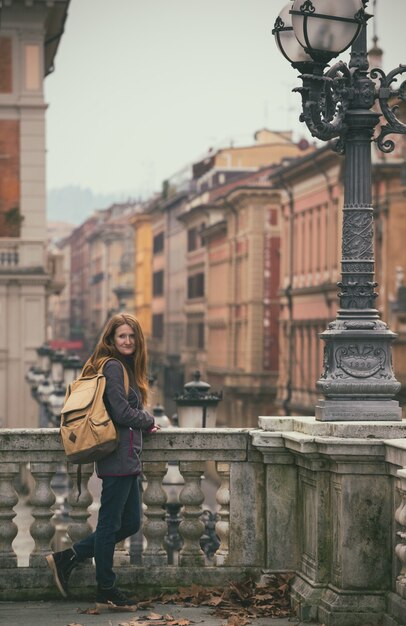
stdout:
<svg viewBox="0 0 406 626">
<path fill-rule="evenodd" d="M 151 592 L 295 572 L 292 604 L 304 621 L 404 626 L 406 423 L 298 417 L 260 418 L 259 425 L 168 429 L 145 438 L 143 536 L 135 548 L 117 546 L 120 585 Z M 26 496 L 15 485 L 27 464 L 33 548 L 21 566 L 13 550 L 15 509 Z M 57 430 L 0 430 L 0 600 L 56 597 L 44 556 L 56 538 L 69 545 L 94 523 L 93 467 L 83 467 L 77 498 L 76 467 L 69 466 L 69 519 L 58 529 L 54 481 L 63 466 Z M 209 500 L 216 510 L 213 558 L 202 550 Z M 75 570 L 75 597 L 94 593 L 92 568 Z"/>
</svg>

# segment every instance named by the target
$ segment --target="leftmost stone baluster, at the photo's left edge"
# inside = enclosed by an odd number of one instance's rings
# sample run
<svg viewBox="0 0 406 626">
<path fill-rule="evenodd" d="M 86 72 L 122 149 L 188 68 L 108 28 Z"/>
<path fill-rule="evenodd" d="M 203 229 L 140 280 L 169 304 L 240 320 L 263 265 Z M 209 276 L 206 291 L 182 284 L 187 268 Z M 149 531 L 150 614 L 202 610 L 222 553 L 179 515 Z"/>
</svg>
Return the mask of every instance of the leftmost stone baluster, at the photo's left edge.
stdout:
<svg viewBox="0 0 406 626">
<path fill-rule="evenodd" d="M 0 463 L 0 569 L 17 567 L 12 543 L 18 533 L 17 524 L 13 522 L 14 507 L 18 502 L 13 482 L 18 472 L 18 463 Z"/>
</svg>

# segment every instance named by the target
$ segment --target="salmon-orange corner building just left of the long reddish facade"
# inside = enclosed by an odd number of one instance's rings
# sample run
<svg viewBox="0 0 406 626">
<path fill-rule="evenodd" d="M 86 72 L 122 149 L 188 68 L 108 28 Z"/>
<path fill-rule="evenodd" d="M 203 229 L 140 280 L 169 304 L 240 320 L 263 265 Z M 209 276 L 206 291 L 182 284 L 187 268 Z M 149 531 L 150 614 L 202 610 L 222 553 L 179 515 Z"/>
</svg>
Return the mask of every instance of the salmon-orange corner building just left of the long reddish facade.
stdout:
<svg viewBox="0 0 406 626">
<path fill-rule="evenodd" d="M 207 251 L 205 372 L 222 389 L 219 422 L 255 426 L 275 412 L 278 376 L 279 196 L 260 176 L 217 199 Z M 254 178 L 254 177 L 251 177 Z"/>
</svg>

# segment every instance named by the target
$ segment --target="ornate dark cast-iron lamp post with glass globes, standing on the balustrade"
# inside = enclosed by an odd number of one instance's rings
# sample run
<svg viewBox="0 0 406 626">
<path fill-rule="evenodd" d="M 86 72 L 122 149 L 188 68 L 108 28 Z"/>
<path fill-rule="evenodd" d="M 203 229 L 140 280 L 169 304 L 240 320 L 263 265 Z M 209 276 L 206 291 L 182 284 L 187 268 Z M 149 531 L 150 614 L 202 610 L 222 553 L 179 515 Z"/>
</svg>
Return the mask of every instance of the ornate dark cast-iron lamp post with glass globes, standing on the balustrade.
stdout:
<svg viewBox="0 0 406 626">
<path fill-rule="evenodd" d="M 400 65 L 388 75 L 369 72 L 367 58 L 368 0 L 295 0 L 276 19 L 273 34 L 282 54 L 301 73 L 302 114 L 311 134 L 335 140 L 333 150 L 345 155 L 340 308 L 321 334 L 324 371 L 317 388 L 324 398 L 316 406 L 321 421 L 400 420 L 400 389 L 392 370 L 395 338 L 375 308 L 371 142 L 391 152 L 392 133 L 406 133 L 396 117 L 406 100 L 406 73 Z M 351 47 L 349 64 L 328 63 Z M 379 79 L 376 87 L 372 79 Z M 374 138 L 380 114 L 386 124 Z"/>
</svg>

